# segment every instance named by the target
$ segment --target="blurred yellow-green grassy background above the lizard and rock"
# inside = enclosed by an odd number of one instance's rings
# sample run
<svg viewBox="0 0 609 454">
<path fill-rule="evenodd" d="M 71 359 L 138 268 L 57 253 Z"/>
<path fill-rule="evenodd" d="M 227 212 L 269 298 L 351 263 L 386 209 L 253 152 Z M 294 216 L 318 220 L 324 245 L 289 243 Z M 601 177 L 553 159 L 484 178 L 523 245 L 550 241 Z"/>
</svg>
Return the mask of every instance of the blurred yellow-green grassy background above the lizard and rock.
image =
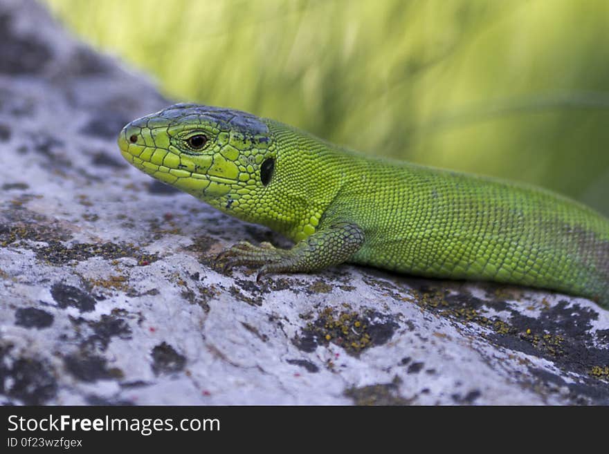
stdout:
<svg viewBox="0 0 609 454">
<path fill-rule="evenodd" d="M 46 0 L 180 101 L 609 214 L 607 0 Z"/>
</svg>

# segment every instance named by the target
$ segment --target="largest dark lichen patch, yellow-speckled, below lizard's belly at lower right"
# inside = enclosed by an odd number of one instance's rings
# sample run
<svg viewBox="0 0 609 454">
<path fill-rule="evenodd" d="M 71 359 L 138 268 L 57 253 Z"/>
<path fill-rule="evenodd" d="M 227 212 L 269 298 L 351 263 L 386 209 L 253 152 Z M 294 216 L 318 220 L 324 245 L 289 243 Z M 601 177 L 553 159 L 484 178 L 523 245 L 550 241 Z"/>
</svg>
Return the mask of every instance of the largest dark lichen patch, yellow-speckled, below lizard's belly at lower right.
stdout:
<svg viewBox="0 0 609 454">
<path fill-rule="evenodd" d="M 596 310 L 567 301 L 555 305 L 542 301 L 538 315 L 532 317 L 512 309 L 502 300 L 482 301 L 464 292 L 448 296 L 441 285 L 421 286 L 419 291 L 413 292 L 413 296 L 421 308 L 455 323 L 474 323 L 487 328 L 490 332 L 483 331 L 480 337 L 493 345 L 547 359 L 559 370 L 577 377 L 574 383 L 566 384 L 549 372 L 545 375 L 534 373 L 547 392 L 550 392 L 550 385 L 565 386 L 570 390 L 573 404 L 609 401 L 607 378 L 600 373 L 609 366 L 609 349 L 595 346 L 595 341 L 605 336 L 603 331 L 594 332 L 593 322 L 598 319 Z M 509 316 L 505 320 L 486 316 L 487 308 L 505 311 Z M 560 379 L 561 384 L 552 383 L 549 377 Z"/>
</svg>

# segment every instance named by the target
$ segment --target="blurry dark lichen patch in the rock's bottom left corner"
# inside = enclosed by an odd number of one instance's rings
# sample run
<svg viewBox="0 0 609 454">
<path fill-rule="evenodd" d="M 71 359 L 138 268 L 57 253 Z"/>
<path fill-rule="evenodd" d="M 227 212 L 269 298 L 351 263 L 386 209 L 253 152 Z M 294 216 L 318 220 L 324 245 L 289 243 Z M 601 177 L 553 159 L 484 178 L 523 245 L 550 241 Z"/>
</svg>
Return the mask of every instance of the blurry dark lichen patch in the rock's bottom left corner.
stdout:
<svg viewBox="0 0 609 454">
<path fill-rule="evenodd" d="M 57 395 L 57 380 L 45 360 L 12 358 L 12 344 L 0 345 L 0 394 L 26 405 L 43 405 Z"/>
</svg>

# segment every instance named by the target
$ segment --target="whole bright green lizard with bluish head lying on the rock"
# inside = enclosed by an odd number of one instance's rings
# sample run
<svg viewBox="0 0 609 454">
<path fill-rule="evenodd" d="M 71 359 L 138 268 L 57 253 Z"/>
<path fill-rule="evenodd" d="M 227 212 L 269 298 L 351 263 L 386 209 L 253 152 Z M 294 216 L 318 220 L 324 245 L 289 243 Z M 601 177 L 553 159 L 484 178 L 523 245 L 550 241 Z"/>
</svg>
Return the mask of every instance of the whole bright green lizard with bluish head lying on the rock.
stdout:
<svg viewBox="0 0 609 454">
<path fill-rule="evenodd" d="M 543 287 L 609 308 L 609 220 L 544 189 L 361 155 L 274 120 L 176 104 L 134 120 L 122 155 L 291 249 L 241 242 L 227 267 L 343 262 Z"/>
</svg>

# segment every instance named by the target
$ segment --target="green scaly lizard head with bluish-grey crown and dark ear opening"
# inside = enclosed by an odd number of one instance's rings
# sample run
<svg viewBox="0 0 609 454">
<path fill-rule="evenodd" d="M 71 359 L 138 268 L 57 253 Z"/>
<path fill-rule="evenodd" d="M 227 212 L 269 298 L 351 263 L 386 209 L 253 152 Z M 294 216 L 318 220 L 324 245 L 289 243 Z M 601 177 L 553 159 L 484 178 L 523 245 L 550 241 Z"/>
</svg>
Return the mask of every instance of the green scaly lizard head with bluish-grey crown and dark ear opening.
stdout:
<svg viewBox="0 0 609 454">
<path fill-rule="evenodd" d="M 127 124 L 118 136 L 135 167 L 242 218 L 273 178 L 275 147 L 258 117 L 228 108 L 176 104 Z"/>
</svg>

